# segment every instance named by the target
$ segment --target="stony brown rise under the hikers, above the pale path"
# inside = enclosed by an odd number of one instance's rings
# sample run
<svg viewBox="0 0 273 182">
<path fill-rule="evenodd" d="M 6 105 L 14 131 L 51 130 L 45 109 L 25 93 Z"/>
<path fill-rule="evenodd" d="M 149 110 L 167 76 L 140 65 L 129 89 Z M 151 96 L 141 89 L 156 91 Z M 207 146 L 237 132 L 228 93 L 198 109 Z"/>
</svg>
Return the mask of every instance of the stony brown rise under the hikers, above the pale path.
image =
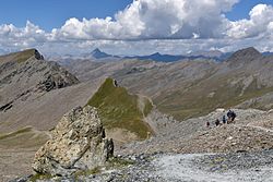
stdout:
<svg viewBox="0 0 273 182">
<path fill-rule="evenodd" d="M 226 113 L 224 109 L 183 122 L 168 122 L 151 139 L 128 144 L 118 154 L 178 154 L 237 153 L 270 149 L 273 146 L 273 112 L 256 109 L 235 109 L 236 122 L 215 126 L 215 120 Z M 156 121 L 154 122 L 162 122 Z M 211 126 L 206 126 L 206 122 Z"/>
</svg>

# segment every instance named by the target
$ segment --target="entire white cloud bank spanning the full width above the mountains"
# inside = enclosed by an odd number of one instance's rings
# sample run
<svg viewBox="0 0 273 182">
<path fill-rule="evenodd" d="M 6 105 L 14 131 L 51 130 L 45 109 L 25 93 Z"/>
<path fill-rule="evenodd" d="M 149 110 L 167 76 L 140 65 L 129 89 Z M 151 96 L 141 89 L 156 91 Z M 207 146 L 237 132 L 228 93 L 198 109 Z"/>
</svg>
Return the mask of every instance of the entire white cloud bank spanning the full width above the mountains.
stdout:
<svg viewBox="0 0 273 182">
<path fill-rule="evenodd" d="M 100 47 L 110 53 L 185 53 L 202 49 L 235 50 L 256 46 L 272 50 L 273 7 L 258 4 L 249 19 L 229 21 L 224 13 L 239 0 L 134 0 L 114 17 L 69 19 L 45 32 L 0 25 L 0 51 L 38 47 L 45 52 L 82 52 Z"/>
</svg>

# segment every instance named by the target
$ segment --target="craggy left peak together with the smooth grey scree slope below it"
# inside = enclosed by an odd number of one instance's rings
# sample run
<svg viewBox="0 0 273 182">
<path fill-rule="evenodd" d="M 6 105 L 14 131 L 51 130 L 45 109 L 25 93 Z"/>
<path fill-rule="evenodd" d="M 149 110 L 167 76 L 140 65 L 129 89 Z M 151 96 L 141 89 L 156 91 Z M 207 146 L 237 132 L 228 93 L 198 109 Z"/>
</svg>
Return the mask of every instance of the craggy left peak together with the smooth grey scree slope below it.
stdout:
<svg viewBox="0 0 273 182">
<path fill-rule="evenodd" d="M 23 59 L 24 58 L 24 59 Z M 99 81 L 80 83 L 35 49 L 0 57 L 0 133 L 27 125 L 50 130 L 70 109 L 84 106 Z"/>
</svg>

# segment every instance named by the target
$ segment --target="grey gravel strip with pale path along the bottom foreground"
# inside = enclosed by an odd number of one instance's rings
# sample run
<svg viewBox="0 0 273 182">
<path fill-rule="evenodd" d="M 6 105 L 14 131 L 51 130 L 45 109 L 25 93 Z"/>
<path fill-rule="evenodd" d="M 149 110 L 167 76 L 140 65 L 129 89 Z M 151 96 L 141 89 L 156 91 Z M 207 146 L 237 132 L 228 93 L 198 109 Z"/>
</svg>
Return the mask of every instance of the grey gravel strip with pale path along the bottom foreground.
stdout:
<svg viewBox="0 0 273 182">
<path fill-rule="evenodd" d="M 236 154 L 141 154 L 120 156 L 131 165 L 100 173 L 44 182 L 272 182 L 273 149 Z M 12 182 L 27 180 L 21 178 Z"/>
</svg>

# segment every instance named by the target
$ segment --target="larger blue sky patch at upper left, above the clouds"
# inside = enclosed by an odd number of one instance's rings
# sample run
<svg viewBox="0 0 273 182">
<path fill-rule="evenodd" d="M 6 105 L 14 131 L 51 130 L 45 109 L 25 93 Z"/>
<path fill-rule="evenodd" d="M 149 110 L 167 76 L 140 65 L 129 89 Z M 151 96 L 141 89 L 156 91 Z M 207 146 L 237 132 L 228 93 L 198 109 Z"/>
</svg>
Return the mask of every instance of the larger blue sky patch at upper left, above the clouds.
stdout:
<svg viewBox="0 0 273 182">
<path fill-rule="evenodd" d="M 46 31 L 60 27 L 68 19 L 112 16 L 132 0 L 4 0 L 0 24 L 25 26 L 31 21 Z"/>
</svg>

